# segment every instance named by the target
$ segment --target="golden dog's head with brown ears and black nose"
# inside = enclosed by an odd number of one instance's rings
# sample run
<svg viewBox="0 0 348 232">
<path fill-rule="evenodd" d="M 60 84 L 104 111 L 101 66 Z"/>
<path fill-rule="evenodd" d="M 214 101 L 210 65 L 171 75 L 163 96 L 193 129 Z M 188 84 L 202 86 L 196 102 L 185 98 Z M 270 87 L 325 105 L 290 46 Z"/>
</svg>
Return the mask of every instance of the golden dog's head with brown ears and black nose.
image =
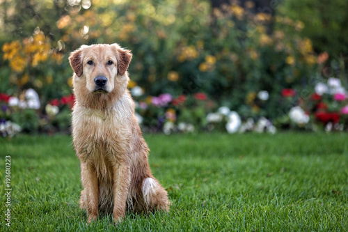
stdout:
<svg viewBox="0 0 348 232">
<path fill-rule="evenodd" d="M 70 65 L 76 74 L 74 90 L 84 88 L 95 94 L 125 91 L 128 82 L 125 72 L 131 59 L 130 51 L 117 44 L 82 45 L 69 57 Z"/>
</svg>

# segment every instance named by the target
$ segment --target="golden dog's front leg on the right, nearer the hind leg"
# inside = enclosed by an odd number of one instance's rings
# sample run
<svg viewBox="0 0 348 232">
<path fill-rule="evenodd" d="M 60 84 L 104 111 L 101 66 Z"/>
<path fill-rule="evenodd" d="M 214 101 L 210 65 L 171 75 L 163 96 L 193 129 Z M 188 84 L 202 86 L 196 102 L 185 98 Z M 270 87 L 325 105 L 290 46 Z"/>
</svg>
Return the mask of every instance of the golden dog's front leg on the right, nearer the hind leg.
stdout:
<svg viewBox="0 0 348 232">
<path fill-rule="evenodd" d="M 130 185 L 130 169 L 125 162 L 113 165 L 113 221 L 125 217 L 127 194 Z"/>
</svg>

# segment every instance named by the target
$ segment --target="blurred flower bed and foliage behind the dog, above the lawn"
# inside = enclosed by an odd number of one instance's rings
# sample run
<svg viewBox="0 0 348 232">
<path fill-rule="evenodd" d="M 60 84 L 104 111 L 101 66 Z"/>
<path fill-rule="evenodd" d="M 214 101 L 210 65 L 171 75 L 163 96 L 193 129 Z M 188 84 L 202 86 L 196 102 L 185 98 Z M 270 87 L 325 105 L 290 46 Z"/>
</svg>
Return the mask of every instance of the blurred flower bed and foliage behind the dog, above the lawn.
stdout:
<svg viewBox="0 0 348 232">
<path fill-rule="evenodd" d="M 132 50 L 144 132 L 347 131 L 348 1 L 0 0 L 0 134 L 70 132 L 68 56 Z"/>
</svg>

